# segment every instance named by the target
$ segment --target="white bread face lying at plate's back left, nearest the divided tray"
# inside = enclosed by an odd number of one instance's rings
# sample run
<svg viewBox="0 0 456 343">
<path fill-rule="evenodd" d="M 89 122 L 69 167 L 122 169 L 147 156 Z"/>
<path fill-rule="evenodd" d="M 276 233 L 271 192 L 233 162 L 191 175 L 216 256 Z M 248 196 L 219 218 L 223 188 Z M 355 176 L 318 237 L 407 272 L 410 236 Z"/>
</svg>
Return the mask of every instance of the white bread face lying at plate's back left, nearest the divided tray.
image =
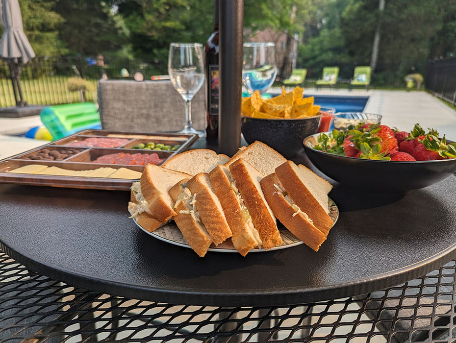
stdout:
<svg viewBox="0 0 456 343">
<path fill-rule="evenodd" d="M 217 154 L 213 150 L 194 149 L 171 157 L 162 167 L 193 176 L 200 172 L 210 172 L 216 165 L 225 164 L 228 160 L 227 155 Z"/>
</svg>

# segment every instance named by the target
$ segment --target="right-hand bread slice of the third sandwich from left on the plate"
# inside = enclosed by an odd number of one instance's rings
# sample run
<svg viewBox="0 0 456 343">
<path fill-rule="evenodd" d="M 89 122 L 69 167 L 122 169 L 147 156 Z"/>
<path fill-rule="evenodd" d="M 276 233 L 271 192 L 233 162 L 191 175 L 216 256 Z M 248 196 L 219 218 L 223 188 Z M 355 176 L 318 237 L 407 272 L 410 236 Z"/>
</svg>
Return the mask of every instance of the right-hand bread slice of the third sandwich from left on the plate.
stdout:
<svg viewBox="0 0 456 343">
<path fill-rule="evenodd" d="M 281 245 L 282 238 L 277 228 L 276 217 L 269 207 L 260 186 L 260 180 L 264 175 L 242 158 L 231 163 L 229 171 L 252 216 L 253 226 L 258 231 L 263 242 L 262 246 L 267 250 Z"/>
</svg>

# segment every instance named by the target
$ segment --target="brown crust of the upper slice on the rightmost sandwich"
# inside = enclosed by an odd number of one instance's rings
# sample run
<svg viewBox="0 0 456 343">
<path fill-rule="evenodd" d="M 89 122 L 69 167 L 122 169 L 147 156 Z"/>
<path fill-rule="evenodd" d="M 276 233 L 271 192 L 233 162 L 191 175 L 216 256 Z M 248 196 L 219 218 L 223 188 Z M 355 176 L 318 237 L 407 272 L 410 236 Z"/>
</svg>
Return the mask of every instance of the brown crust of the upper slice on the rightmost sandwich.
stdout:
<svg viewBox="0 0 456 343">
<path fill-rule="evenodd" d="M 283 188 L 288 192 L 293 202 L 309 216 L 313 224 L 325 235 L 332 227 L 332 220 L 325 209 L 310 193 L 307 187 L 300 180 L 293 170 L 293 162 L 287 161 L 276 168 L 276 176 L 279 178 Z M 278 217 L 279 218 L 279 217 Z M 279 219 L 280 220 L 280 219 Z"/>
</svg>

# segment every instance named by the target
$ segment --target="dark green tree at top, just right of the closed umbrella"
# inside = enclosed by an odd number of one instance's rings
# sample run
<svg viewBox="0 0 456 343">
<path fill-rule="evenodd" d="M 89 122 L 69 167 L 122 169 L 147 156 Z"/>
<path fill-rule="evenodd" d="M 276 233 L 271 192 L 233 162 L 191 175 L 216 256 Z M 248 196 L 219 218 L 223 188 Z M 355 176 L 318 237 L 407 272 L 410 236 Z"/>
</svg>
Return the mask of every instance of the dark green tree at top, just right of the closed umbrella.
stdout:
<svg viewBox="0 0 456 343">
<path fill-rule="evenodd" d="M 64 18 L 59 37 L 73 53 L 97 55 L 127 43 L 127 30 L 104 1 L 57 0 L 54 10 Z"/>
</svg>

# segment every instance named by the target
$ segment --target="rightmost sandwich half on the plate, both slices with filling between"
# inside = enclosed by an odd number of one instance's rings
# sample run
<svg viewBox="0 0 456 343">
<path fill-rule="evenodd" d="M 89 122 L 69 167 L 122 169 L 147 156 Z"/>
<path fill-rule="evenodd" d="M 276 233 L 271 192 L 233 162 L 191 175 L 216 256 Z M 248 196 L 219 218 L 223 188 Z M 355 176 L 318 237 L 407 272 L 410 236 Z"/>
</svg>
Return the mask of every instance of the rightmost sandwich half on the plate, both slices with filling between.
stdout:
<svg viewBox="0 0 456 343">
<path fill-rule="evenodd" d="M 291 161 L 280 165 L 260 184 L 277 219 L 306 245 L 318 251 L 333 224 L 328 215 L 330 184 Z"/>
</svg>

